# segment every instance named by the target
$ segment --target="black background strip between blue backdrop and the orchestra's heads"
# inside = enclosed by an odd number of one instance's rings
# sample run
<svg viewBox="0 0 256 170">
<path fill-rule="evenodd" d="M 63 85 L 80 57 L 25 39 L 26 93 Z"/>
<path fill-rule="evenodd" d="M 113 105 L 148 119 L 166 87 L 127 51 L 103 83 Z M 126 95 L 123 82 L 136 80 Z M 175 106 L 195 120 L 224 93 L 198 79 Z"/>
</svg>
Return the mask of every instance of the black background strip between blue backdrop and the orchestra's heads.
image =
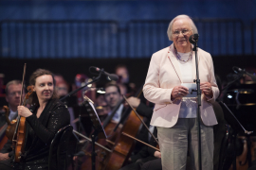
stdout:
<svg viewBox="0 0 256 170">
<path fill-rule="evenodd" d="M 232 67 L 240 68 L 255 67 L 255 56 L 235 56 L 235 57 L 213 57 L 215 74 L 223 81 L 229 73 L 233 73 Z M 21 79 L 24 63 L 27 63 L 27 76 L 37 68 L 51 70 L 55 74 L 61 74 L 69 83 L 74 83 L 77 74 L 85 74 L 92 77 L 88 68 L 97 66 L 104 68 L 108 73 L 115 73 L 118 64 L 125 64 L 128 67 L 130 81 L 137 86 L 143 84 L 147 75 L 150 59 L 1 59 L 0 73 L 5 74 L 5 82 L 12 79 Z"/>
</svg>

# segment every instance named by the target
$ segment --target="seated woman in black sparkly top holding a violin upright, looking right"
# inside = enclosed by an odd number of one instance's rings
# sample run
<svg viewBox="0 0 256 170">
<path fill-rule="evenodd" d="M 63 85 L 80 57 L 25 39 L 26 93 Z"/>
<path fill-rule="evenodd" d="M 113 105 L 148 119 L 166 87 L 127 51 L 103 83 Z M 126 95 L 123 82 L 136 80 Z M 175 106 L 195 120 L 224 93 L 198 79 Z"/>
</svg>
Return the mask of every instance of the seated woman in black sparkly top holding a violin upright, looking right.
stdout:
<svg viewBox="0 0 256 170">
<path fill-rule="evenodd" d="M 25 153 L 21 162 L 13 162 L 14 153 L 9 160 L 0 162 L 0 169 L 48 169 L 49 145 L 57 131 L 69 125 L 70 116 L 64 104 L 58 100 L 55 81 L 51 72 L 38 69 L 29 79 L 33 92 L 29 96 L 27 109 L 18 106 L 18 114 L 26 117 Z"/>
</svg>

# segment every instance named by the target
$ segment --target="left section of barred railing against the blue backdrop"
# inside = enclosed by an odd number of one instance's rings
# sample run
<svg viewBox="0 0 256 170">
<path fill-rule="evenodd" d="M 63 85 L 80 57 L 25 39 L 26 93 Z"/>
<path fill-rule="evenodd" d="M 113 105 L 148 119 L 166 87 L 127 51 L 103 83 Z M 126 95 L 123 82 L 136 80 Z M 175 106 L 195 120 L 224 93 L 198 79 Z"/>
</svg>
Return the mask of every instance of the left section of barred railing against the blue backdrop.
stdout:
<svg viewBox="0 0 256 170">
<path fill-rule="evenodd" d="M 115 21 L 2 21 L 3 58 L 110 58 L 117 52 Z"/>
</svg>

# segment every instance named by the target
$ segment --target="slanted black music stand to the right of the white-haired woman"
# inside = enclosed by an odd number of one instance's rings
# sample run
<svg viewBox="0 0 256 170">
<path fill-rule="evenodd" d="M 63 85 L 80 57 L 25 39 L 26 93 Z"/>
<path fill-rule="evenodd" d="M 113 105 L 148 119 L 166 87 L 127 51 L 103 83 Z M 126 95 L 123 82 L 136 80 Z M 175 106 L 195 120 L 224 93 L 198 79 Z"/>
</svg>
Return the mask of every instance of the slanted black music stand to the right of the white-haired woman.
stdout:
<svg viewBox="0 0 256 170">
<path fill-rule="evenodd" d="M 248 136 L 253 133 L 253 131 L 248 131 L 241 123 L 240 121 L 235 117 L 235 115 L 232 113 L 231 110 L 229 110 L 229 107 L 223 103 L 223 102 L 219 102 L 222 109 L 223 109 L 223 113 L 224 113 L 224 117 L 225 120 L 228 122 L 228 124 L 230 125 L 230 127 L 233 128 L 234 130 L 234 134 L 232 135 L 232 142 L 233 142 L 233 146 L 234 146 L 234 159 L 233 159 L 233 170 L 236 170 L 236 145 L 235 145 L 235 138 L 236 138 L 236 134 L 238 134 L 239 131 L 244 131 L 245 134 L 247 135 L 247 148 L 248 148 L 248 152 L 247 152 L 247 159 L 248 159 L 248 167 L 251 166 L 251 154 L 250 154 L 250 142 L 249 142 L 249 138 Z"/>
</svg>

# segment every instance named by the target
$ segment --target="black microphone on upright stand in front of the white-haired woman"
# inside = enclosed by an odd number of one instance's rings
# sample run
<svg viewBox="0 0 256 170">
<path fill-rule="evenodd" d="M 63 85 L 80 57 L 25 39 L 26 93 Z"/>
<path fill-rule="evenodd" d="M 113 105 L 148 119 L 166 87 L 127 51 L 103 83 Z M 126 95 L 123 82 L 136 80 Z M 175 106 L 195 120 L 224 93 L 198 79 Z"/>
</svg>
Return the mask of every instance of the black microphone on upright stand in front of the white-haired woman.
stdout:
<svg viewBox="0 0 256 170">
<path fill-rule="evenodd" d="M 198 163 L 199 163 L 199 170 L 202 170 L 202 156 L 201 156 L 201 123 L 200 123 L 200 107 L 201 107 L 201 91 L 200 91 L 200 79 L 199 79 L 199 70 L 198 70 L 198 56 L 197 56 L 197 41 L 198 36 L 193 37 L 194 46 L 192 51 L 195 53 L 195 66 L 196 66 L 196 79 L 193 82 L 196 82 L 197 86 L 197 110 L 196 110 L 196 117 L 197 117 L 197 137 L 198 137 Z"/>
</svg>

